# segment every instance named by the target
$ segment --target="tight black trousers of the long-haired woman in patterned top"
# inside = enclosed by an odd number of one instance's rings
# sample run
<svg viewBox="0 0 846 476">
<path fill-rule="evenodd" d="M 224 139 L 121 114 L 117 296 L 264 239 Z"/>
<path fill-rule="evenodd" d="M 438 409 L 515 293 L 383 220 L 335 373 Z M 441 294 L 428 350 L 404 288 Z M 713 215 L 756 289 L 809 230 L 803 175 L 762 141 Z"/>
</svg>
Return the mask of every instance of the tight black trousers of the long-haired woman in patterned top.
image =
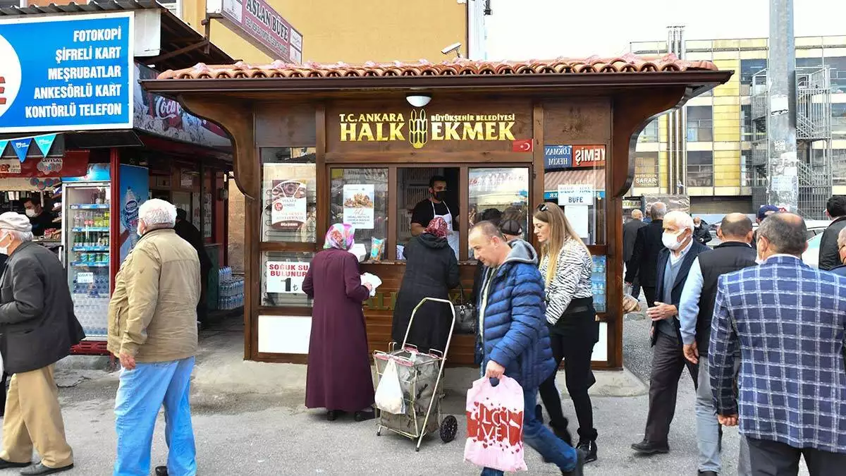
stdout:
<svg viewBox="0 0 846 476">
<path fill-rule="evenodd" d="M 550 329 L 552 357 L 555 358 L 557 366 L 562 360 L 564 362 L 567 392 L 573 400 L 576 418 L 579 420 L 580 439 L 596 440 L 593 407 L 588 389 L 596 383 L 591 370 L 591 354 L 599 336 L 599 323 L 596 322 L 596 314 L 593 312 L 565 315 L 562 319 L 568 319 L 573 325 L 566 329 Z M 555 386 L 555 376 L 556 372 L 553 372 L 541 383 L 541 401 L 549 413 L 550 426 L 566 429 L 568 422 L 561 408 L 561 396 Z"/>
</svg>

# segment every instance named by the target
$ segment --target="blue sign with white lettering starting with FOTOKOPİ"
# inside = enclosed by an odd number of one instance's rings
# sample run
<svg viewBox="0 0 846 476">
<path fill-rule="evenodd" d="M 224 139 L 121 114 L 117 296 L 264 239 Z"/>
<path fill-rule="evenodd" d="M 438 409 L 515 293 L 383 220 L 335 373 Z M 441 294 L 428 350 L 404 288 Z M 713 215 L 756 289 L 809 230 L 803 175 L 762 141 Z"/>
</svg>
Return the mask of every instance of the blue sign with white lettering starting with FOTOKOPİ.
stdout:
<svg viewBox="0 0 846 476">
<path fill-rule="evenodd" d="M 133 20 L 0 19 L 0 133 L 130 129 Z"/>
</svg>

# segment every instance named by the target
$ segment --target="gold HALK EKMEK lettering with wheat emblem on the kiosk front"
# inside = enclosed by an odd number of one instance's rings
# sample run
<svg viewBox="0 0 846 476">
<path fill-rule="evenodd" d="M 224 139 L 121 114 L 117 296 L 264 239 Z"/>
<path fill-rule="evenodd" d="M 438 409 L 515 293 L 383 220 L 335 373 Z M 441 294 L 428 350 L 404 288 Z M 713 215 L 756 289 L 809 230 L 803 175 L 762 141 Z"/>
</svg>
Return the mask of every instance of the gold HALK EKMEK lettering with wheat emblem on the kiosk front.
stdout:
<svg viewBox="0 0 846 476">
<path fill-rule="evenodd" d="M 409 141 L 420 149 L 429 141 L 512 141 L 516 114 L 340 113 L 340 140 Z"/>
</svg>

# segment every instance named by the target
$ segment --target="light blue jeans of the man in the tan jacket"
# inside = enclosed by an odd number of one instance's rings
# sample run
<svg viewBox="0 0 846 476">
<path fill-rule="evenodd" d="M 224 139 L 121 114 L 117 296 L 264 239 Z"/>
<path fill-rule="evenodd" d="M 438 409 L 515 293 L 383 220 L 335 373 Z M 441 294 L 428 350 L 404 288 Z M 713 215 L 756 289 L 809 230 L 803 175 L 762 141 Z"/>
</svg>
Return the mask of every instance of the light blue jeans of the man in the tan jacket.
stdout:
<svg viewBox="0 0 846 476">
<path fill-rule="evenodd" d="M 168 442 L 168 474 L 197 473 L 194 429 L 191 426 L 191 369 L 194 357 L 161 363 L 139 363 L 133 370 L 120 370 L 118 396 L 114 402 L 118 432 L 118 457 L 114 476 L 148 476 L 153 430 L 164 405 L 165 440 Z"/>
</svg>

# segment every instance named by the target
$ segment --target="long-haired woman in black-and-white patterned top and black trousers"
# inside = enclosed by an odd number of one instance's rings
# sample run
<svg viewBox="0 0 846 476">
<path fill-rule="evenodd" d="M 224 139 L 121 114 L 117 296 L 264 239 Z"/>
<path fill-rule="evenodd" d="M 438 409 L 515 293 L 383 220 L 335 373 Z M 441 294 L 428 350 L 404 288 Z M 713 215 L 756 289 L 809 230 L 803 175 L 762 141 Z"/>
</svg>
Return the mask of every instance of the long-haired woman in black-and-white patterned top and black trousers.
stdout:
<svg viewBox="0 0 846 476">
<path fill-rule="evenodd" d="M 599 340 L 599 323 L 593 307 L 591 274 L 593 260 L 585 243 L 569 224 L 558 205 L 542 203 L 535 211 L 535 235 L 541 243 L 541 276 L 546 281 L 547 326 L 556 363 L 564 363 L 566 384 L 579 419 L 578 447 L 585 462 L 596 460 L 596 429 L 588 389 L 596 383 L 591 371 L 593 346 Z M 555 373 L 541 384 L 553 431 L 571 440 Z"/>
</svg>

